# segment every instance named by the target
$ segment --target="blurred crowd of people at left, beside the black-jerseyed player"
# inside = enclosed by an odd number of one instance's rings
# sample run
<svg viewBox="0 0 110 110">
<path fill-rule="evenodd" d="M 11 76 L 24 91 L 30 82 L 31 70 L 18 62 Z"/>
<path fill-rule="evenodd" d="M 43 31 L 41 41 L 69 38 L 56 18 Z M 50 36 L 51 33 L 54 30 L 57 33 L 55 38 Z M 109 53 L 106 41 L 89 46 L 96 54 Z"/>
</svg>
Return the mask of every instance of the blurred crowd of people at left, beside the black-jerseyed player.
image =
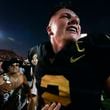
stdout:
<svg viewBox="0 0 110 110">
<path fill-rule="evenodd" d="M 0 56 L 0 110 L 36 110 L 37 57 L 29 58 Z"/>
</svg>

